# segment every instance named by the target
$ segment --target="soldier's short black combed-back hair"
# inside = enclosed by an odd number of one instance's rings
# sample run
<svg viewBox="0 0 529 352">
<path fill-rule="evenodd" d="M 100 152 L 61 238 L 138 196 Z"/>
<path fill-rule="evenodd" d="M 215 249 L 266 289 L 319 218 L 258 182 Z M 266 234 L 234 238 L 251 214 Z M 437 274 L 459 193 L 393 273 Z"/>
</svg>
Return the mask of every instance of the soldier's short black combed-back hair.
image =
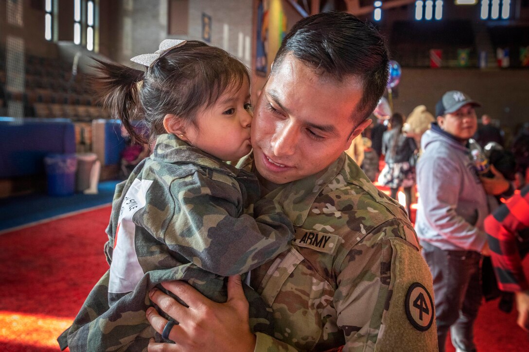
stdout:
<svg viewBox="0 0 529 352">
<path fill-rule="evenodd" d="M 353 118 L 357 124 L 369 117 L 380 100 L 389 77 L 389 54 L 378 31 L 345 12 L 325 12 L 298 21 L 277 52 L 271 73 L 288 54 L 313 68 L 316 75 L 337 82 L 358 77 L 363 94 Z"/>
</svg>

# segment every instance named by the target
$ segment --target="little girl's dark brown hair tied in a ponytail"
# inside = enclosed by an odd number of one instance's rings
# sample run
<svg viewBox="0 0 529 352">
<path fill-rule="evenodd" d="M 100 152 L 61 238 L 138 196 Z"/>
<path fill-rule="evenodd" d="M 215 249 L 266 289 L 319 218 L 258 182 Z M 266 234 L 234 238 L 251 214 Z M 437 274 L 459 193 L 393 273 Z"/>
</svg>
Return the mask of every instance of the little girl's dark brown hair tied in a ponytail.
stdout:
<svg viewBox="0 0 529 352">
<path fill-rule="evenodd" d="M 131 121 L 143 118 L 150 139 L 166 133 L 163 118 L 174 114 L 197 127 L 195 116 L 215 104 L 226 89 L 238 90 L 248 69 L 228 52 L 200 41 L 170 50 L 147 71 L 96 60 L 92 85 L 113 117 L 119 118 L 133 142 L 147 143 Z"/>
</svg>

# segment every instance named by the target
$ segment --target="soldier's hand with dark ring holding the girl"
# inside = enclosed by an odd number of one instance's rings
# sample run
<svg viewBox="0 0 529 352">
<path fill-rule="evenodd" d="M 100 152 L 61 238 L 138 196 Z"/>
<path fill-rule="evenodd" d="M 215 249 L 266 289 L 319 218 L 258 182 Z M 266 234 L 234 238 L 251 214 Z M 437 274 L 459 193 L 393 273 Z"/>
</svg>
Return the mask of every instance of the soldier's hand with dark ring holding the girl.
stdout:
<svg viewBox="0 0 529 352">
<path fill-rule="evenodd" d="M 207 299 L 188 283 L 171 281 L 162 286 L 186 302 L 189 308 L 178 303 L 160 290 L 153 289 L 151 301 L 160 307 L 179 325 L 175 325 L 169 339 L 175 344 L 149 342 L 149 352 L 159 351 L 253 351 L 256 336 L 250 331 L 248 301 L 242 289 L 241 276 L 230 276 L 227 284 L 226 303 Z M 147 320 L 160 334 L 167 324 L 156 309 L 147 310 Z"/>
</svg>

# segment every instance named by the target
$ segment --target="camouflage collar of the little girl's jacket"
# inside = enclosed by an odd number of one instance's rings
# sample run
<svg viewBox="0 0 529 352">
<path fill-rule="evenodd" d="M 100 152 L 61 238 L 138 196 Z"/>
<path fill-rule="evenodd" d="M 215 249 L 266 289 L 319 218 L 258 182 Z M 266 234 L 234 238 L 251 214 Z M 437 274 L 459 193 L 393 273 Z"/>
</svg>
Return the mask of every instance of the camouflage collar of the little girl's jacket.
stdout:
<svg viewBox="0 0 529 352">
<path fill-rule="evenodd" d="M 151 159 L 169 163 L 189 163 L 204 166 L 232 177 L 239 174 L 234 166 L 226 164 L 215 156 L 180 140 L 174 134 L 166 133 L 158 136 Z"/>
</svg>

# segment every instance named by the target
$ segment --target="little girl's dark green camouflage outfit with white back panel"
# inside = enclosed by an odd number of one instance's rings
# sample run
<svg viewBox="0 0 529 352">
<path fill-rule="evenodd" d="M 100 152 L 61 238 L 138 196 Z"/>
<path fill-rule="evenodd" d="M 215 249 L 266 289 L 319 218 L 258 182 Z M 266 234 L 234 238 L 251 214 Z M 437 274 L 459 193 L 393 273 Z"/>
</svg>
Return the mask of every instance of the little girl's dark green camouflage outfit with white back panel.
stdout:
<svg viewBox="0 0 529 352">
<path fill-rule="evenodd" d="M 106 230 L 110 270 L 59 337 L 61 349 L 147 350 L 155 335 L 145 318 L 148 292 L 164 281 L 187 280 L 224 302 L 224 276 L 247 272 L 289 248 L 290 220 L 259 196 L 253 174 L 174 135 L 159 136 L 151 157 L 116 187 Z M 253 330 L 272 334 L 271 309 L 253 290 L 245 293 Z"/>
</svg>

